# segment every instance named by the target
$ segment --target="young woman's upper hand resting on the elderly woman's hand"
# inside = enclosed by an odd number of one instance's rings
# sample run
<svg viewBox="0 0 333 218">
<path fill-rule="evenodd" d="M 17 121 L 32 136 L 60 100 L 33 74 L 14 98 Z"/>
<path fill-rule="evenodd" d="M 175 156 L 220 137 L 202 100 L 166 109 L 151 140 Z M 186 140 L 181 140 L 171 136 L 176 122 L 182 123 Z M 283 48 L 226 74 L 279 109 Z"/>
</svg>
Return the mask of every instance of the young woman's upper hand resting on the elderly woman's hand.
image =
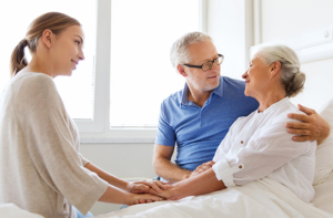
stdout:
<svg viewBox="0 0 333 218">
<path fill-rule="evenodd" d="M 127 190 L 133 194 L 140 193 L 150 193 L 150 189 L 161 193 L 170 187 L 168 183 L 160 180 L 140 180 L 140 181 L 130 181 L 128 184 Z"/>
</svg>

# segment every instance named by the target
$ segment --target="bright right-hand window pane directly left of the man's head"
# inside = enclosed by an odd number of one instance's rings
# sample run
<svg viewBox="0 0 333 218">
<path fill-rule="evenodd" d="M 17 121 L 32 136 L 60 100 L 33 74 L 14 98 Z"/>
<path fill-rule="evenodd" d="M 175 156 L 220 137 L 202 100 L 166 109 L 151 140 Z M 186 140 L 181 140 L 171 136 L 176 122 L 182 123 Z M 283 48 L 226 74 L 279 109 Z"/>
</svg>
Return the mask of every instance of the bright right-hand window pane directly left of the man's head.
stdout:
<svg viewBox="0 0 333 218">
<path fill-rule="evenodd" d="M 157 126 L 161 102 L 184 85 L 170 48 L 200 30 L 200 0 L 112 0 L 111 127 Z"/>
</svg>

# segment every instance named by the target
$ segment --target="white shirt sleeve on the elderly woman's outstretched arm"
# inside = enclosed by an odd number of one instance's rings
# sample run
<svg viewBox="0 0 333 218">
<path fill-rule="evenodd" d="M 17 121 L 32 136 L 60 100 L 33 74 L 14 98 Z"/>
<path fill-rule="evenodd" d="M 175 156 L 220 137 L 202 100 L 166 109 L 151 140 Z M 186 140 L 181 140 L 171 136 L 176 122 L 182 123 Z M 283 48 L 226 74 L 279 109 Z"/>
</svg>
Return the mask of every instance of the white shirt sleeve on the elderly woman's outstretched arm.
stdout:
<svg viewBox="0 0 333 218">
<path fill-rule="evenodd" d="M 294 142 L 285 131 L 284 122 L 266 127 L 261 137 L 251 139 L 245 147 L 232 148 L 213 166 L 219 180 L 226 187 L 245 185 L 263 178 L 292 159 L 315 150 L 315 142 Z"/>
</svg>

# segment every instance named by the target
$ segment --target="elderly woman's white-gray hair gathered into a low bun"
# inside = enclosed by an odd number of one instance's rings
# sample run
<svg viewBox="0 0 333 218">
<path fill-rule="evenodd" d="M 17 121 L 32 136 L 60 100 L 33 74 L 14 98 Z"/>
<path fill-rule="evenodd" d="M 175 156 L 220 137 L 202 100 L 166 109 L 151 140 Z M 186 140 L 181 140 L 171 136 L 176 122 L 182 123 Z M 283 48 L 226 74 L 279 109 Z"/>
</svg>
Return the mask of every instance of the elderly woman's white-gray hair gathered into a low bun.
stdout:
<svg viewBox="0 0 333 218">
<path fill-rule="evenodd" d="M 258 56 L 268 65 L 274 61 L 281 63 L 281 82 L 289 97 L 296 96 L 304 87 L 305 74 L 300 71 L 300 61 L 296 53 L 285 46 L 264 46 L 258 52 Z"/>
</svg>

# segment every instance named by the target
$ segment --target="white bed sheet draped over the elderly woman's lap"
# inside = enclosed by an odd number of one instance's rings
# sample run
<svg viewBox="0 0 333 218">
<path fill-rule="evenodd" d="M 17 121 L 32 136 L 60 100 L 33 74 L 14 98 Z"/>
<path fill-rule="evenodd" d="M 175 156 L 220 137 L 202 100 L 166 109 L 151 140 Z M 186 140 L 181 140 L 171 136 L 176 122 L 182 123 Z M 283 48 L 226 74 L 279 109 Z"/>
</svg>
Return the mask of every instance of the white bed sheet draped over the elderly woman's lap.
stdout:
<svg viewBox="0 0 333 218">
<path fill-rule="evenodd" d="M 333 217 L 333 174 L 316 186 L 313 205 L 300 200 L 291 190 L 273 179 L 264 178 L 245 186 L 209 195 L 189 197 L 180 203 L 162 201 L 135 205 L 97 218 L 114 217 Z M 330 188 L 331 187 L 331 188 Z M 315 207 L 316 206 L 316 207 Z M 331 206 L 331 207 L 330 207 Z M 331 212 L 331 214 L 330 214 Z"/>
</svg>

